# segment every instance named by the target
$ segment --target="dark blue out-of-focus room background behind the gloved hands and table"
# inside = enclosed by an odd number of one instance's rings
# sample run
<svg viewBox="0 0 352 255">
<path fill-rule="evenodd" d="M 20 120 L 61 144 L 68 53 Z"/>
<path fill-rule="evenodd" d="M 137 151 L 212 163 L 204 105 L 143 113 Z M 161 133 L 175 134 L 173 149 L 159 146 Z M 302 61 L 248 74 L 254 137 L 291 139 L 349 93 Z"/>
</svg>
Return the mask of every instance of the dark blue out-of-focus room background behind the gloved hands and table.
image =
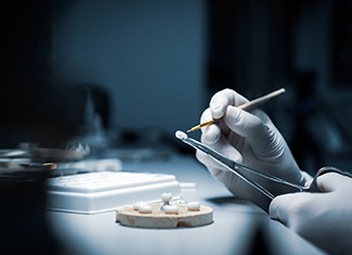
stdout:
<svg viewBox="0 0 352 255">
<path fill-rule="evenodd" d="M 1 148 L 83 137 L 187 153 L 174 131 L 216 91 L 284 87 L 263 109 L 301 168 L 352 169 L 351 11 L 349 0 L 4 3 Z"/>
</svg>

